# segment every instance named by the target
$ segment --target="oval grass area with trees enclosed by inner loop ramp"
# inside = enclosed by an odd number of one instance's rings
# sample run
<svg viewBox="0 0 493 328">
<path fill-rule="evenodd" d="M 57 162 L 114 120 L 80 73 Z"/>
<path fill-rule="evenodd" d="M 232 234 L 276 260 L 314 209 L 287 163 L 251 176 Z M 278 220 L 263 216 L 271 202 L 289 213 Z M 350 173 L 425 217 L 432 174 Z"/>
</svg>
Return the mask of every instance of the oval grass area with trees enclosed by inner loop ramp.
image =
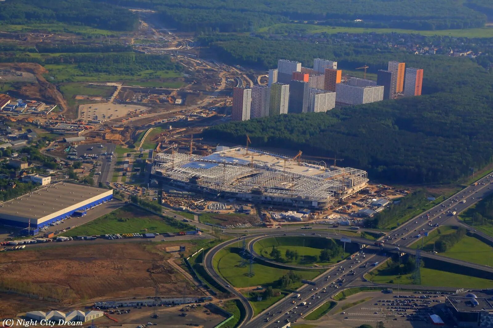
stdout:
<svg viewBox="0 0 493 328">
<path fill-rule="evenodd" d="M 320 255 L 321 248 L 318 248 L 314 240 L 324 241 L 325 238 L 320 237 L 274 237 L 261 239 L 253 244 L 253 249 L 257 254 L 262 255 L 266 258 L 272 258 L 270 256 L 270 252 L 272 250 L 272 246 L 275 246 L 277 249 L 281 251 L 282 258 L 286 260 L 285 253 L 286 250 L 297 251 L 299 254 L 298 260 L 293 261 L 285 261 L 283 263 L 291 264 L 291 265 L 304 265 L 304 266 L 313 266 L 314 264 L 320 266 L 326 266 L 333 263 L 337 263 L 341 260 L 341 258 L 332 258 L 329 262 L 319 262 L 318 256 Z M 305 246 L 303 246 L 305 244 Z M 349 256 L 351 253 L 346 252 L 344 257 Z"/>
</svg>

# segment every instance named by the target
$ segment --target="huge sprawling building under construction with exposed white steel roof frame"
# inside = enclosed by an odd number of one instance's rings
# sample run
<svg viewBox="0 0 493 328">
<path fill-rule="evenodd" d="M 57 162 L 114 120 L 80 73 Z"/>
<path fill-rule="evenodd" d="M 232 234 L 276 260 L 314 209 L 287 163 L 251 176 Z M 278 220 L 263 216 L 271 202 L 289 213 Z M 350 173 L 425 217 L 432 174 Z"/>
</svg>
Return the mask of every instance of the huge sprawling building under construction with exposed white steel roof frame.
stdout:
<svg viewBox="0 0 493 328">
<path fill-rule="evenodd" d="M 207 156 L 158 153 L 152 178 L 214 197 L 314 210 L 327 209 L 364 188 L 363 170 L 327 167 L 258 149 L 234 147 Z"/>
</svg>

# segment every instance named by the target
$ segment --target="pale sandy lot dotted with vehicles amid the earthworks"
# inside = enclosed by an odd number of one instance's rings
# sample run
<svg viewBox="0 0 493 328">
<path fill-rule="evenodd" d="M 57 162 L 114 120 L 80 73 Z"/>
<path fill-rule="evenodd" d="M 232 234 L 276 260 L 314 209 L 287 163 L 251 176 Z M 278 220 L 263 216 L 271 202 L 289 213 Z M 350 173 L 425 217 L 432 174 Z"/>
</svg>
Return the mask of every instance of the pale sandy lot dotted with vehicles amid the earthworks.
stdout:
<svg viewBox="0 0 493 328">
<path fill-rule="evenodd" d="M 144 114 L 149 108 L 138 105 L 122 105 L 113 103 L 87 104 L 79 106 L 80 118 L 90 120 L 112 120 L 127 117 L 130 113 Z"/>
</svg>

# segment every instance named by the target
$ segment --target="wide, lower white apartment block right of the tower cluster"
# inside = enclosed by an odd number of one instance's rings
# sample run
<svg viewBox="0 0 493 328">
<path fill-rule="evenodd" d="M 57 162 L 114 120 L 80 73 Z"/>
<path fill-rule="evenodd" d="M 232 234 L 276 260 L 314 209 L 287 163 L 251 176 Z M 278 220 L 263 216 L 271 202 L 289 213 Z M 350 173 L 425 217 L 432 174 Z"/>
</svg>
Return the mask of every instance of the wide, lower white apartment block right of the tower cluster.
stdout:
<svg viewBox="0 0 493 328">
<path fill-rule="evenodd" d="M 384 99 L 384 86 L 358 87 L 349 83 L 336 86 L 336 102 L 347 105 L 360 105 Z"/>
</svg>

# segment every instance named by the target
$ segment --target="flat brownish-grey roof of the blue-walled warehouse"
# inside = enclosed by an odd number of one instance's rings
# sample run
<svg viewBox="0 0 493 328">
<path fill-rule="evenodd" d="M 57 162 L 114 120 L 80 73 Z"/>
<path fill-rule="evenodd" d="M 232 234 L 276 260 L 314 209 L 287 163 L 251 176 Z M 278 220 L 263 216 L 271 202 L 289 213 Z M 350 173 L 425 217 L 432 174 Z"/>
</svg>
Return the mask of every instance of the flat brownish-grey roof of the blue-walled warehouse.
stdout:
<svg viewBox="0 0 493 328">
<path fill-rule="evenodd" d="M 108 191 L 104 188 L 60 182 L 4 202 L 0 205 L 0 217 L 12 215 L 39 219 Z"/>
</svg>

